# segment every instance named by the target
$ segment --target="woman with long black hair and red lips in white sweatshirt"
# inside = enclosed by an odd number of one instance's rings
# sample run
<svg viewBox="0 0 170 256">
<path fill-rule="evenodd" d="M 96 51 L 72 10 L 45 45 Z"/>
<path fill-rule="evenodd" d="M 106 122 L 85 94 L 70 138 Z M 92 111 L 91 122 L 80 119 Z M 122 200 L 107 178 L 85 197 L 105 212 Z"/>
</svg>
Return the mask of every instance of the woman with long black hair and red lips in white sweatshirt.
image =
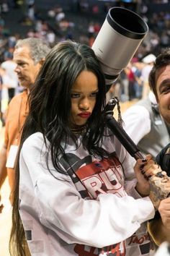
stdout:
<svg viewBox="0 0 170 256">
<path fill-rule="evenodd" d="M 132 179 L 130 155 L 104 124 L 105 93 L 89 46 L 68 40 L 50 51 L 22 133 L 12 255 L 25 255 L 22 223 L 31 255 L 153 252 L 142 223 L 155 210 L 141 170 L 148 176 L 158 166 L 138 160 Z"/>
</svg>

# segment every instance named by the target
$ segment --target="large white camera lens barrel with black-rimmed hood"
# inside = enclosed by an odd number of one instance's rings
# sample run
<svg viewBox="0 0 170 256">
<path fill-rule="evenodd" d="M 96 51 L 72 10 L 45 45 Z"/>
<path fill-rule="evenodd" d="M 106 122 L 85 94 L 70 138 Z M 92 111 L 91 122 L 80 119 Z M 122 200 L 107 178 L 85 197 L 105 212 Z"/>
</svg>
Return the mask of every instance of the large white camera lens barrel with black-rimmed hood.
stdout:
<svg viewBox="0 0 170 256">
<path fill-rule="evenodd" d="M 107 85 L 112 85 L 148 33 L 148 25 L 135 12 L 109 9 L 92 49 L 99 59 Z"/>
</svg>

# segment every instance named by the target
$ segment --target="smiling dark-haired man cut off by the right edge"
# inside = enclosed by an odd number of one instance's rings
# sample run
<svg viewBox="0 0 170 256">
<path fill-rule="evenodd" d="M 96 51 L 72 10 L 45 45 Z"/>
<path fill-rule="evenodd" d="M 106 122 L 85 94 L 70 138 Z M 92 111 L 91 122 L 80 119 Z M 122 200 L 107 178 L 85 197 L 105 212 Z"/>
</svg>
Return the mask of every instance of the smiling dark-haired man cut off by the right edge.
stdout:
<svg viewBox="0 0 170 256">
<path fill-rule="evenodd" d="M 161 116 L 163 116 L 167 127 L 170 127 L 170 48 L 157 56 L 149 76 L 149 85 L 156 96 Z M 156 157 L 157 163 L 163 171 L 166 171 L 168 176 L 170 176 L 169 142 L 170 140 L 167 140 L 166 147 Z M 158 213 L 148 223 L 148 231 L 157 245 L 165 241 L 170 244 L 170 197 L 161 200 Z"/>
</svg>

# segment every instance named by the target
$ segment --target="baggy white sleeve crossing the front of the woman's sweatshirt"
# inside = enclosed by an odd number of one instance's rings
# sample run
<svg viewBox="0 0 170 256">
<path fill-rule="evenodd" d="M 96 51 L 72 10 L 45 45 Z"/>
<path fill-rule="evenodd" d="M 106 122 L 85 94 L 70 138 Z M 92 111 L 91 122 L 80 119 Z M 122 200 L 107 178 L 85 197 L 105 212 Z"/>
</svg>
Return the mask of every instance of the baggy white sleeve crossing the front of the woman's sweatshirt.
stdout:
<svg viewBox="0 0 170 256">
<path fill-rule="evenodd" d="M 35 134 L 36 135 L 36 134 Z M 24 142 L 20 155 L 20 213 L 29 213 L 68 244 L 104 247 L 127 239 L 140 224 L 153 218 L 148 197 L 104 193 L 97 200 L 84 200 L 70 176 L 45 167 L 42 136 Z"/>
</svg>

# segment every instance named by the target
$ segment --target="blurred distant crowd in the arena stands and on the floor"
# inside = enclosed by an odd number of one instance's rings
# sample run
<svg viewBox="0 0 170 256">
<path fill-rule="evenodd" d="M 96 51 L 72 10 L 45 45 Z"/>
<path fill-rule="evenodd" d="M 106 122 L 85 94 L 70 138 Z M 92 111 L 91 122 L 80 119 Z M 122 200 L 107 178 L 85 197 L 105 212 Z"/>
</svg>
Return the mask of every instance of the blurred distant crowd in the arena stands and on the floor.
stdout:
<svg viewBox="0 0 170 256">
<path fill-rule="evenodd" d="M 11 74 L 12 69 L 14 72 L 14 64 L 9 63 L 12 63 L 12 52 L 19 38 L 42 38 L 51 47 L 65 39 L 76 40 L 92 46 L 108 10 L 115 6 L 109 1 L 102 6 L 90 5 L 86 0 L 70 2 L 71 5 L 68 9 L 64 9 L 61 4 L 55 4 L 53 8 L 43 10 L 37 9 L 34 0 L 16 0 L 10 3 L 6 0 L 0 1 L 1 112 L 5 111 L 6 103 L 10 101 L 12 95 L 22 90 L 16 81 L 12 85 L 10 84 L 10 79 L 13 80 L 14 77 L 14 74 Z M 167 3 L 167 1 L 154 2 L 156 4 Z M 119 6 L 127 7 L 121 1 Z M 129 8 L 136 11 L 133 5 Z M 12 27 L 6 27 L 8 24 L 6 14 L 14 12 L 20 15 L 16 20 L 18 20 L 18 26 L 23 28 L 23 34 L 16 33 Z M 143 61 L 143 58 L 149 54 L 157 56 L 161 49 L 168 47 L 170 43 L 169 11 L 151 12 L 148 2 L 142 1 L 139 14 L 146 20 L 149 32 L 128 67 L 123 70 L 115 82 L 115 93 L 122 102 L 145 96 L 143 88 L 145 80 L 148 79 L 146 69 L 151 63 L 146 63 L 147 61 Z M 4 66 L 4 61 L 7 61 L 9 65 Z M 9 95 L 9 91 L 13 91 L 13 93 Z"/>
</svg>

